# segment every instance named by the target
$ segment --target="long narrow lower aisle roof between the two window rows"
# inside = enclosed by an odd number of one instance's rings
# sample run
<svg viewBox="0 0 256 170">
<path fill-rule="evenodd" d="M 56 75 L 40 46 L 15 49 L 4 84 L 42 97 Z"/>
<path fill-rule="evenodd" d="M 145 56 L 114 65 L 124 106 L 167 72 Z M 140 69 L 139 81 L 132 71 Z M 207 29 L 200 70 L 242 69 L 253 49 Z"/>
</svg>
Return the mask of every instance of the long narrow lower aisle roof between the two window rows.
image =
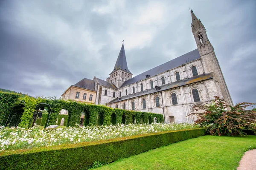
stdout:
<svg viewBox="0 0 256 170">
<path fill-rule="evenodd" d="M 132 98 L 138 97 L 138 96 L 143 96 L 143 95 L 152 94 L 152 93 L 156 93 L 156 92 L 160 92 L 160 91 L 165 91 L 165 90 L 169 90 L 172 88 L 177 88 L 177 87 L 180 87 L 183 85 L 189 85 L 189 84 L 192 84 L 195 82 L 201 82 L 201 81 L 204 81 L 207 79 L 212 79 L 212 78 L 213 78 L 213 72 L 209 73 L 209 74 L 201 74 L 198 76 L 191 77 L 189 79 L 183 79 L 183 80 L 180 80 L 177 82 L 169 83 L 167 85 L 159 86 L 161 88 L 160 90 L 156 90 L 156 88 L 151 88 L 149 90 L 141 91 L 139 93 L 134 93 L 134 94 L 131 94 L 128 96 L 118 97 L 116 99 L 113 99 L 110 103 L 120 102 L 123 100 L 132 99 Z"/>
</svg>

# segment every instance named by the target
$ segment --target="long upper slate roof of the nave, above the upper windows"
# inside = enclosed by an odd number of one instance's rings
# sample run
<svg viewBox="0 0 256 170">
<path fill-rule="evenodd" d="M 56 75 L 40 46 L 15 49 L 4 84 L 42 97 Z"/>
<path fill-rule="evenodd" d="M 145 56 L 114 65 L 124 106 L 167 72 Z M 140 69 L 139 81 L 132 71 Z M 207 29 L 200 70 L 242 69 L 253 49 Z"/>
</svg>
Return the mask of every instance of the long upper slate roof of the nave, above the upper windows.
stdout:
<svg viewBox="0 0 256 170">
<path fill-rule="evenodd" d="M 163 63 L 162 65 L 159 65 L 159 66 L 152 68 L 148 71 L 145 71 L 144 73 L 139 74 L 131 79 L 128 79 L 127 81 L 124 82 L 124 84 L 120 88 L 125 87 L 126 85 L 133 84 L 140 80 L 143 80 L 146 78 L 146 75 L 150 75 L 151 77 L 153 77 L 156 74 L 160 74 L 164 71 L 170 70 L 172 68 L 178 67 L 180 65 L 186 64 L 188 62 L 194 61 L 195 59 L 199 59 L 199 58 L 200 58 L 200 54 L 198 52 L 198 49 L 195 49 L 193 51 L 190 51 L 187 54 L 184 54 L 180 57 L 172 59 L 169 62 Z"/>
</svg>

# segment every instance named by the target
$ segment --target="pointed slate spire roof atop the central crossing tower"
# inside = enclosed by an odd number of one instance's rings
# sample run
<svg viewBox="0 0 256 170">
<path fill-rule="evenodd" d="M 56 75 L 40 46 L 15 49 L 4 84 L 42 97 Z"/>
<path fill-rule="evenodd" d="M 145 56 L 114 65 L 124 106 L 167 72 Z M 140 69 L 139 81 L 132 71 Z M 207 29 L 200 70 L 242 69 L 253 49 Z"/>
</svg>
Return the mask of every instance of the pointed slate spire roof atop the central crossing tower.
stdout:
<svg viewBox="0 0 256 170">
<path fill-rule="evenodd" d="M 116 65 L 111 73 L 113 73 L 117 69 L 122 69 L 123 71 L 126 71 L 131 74 L 131 71 L 128 69 L 127 62 L 126 62 L 124 43 L 122 44 L 121 50 L 116 60 Z"/>
</svg>

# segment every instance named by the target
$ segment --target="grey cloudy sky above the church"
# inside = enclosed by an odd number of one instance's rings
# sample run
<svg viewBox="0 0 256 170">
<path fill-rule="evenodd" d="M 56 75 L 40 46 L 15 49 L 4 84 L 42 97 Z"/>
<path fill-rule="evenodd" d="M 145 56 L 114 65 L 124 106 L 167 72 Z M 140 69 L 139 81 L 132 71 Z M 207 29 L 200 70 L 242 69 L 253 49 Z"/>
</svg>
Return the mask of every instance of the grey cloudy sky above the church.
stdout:
<svg viewBox="0 0 256 170">
<path fill-rule="evenodd" d="M 0 88 L 57 96 L 106 79 L 122 40 L 135 75 L 196 48 L 204 24 L 233 102 L 256 102 L 255 0 L 0 0 Z"/>
</svg>

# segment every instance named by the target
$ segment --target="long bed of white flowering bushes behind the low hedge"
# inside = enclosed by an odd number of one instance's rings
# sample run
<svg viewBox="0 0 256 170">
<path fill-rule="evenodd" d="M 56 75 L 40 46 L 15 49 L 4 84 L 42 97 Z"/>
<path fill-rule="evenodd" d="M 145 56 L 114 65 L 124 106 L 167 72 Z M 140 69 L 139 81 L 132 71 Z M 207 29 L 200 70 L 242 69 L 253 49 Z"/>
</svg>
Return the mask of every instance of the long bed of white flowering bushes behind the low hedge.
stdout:
<svg viewBox="0 0 256 170">
<path fill-rule="evenodd" d="M 29 149 L 32 147 L 45 147 L 61 144 L 74 144 L 79 142 L 113 139 L 145 133 L 157 133 L 160 131 L 193 128 L 198 128 L 198 126 L 188 123 L 156 123 L 151 125 L 117 124 L 94 127 L 66 127 L 58 129 L 39 129 L 38 127 L 32 127 L 26 130 L 20 127 L 9 128 L 1 126 L 0 151 Z"/>
</svg>

